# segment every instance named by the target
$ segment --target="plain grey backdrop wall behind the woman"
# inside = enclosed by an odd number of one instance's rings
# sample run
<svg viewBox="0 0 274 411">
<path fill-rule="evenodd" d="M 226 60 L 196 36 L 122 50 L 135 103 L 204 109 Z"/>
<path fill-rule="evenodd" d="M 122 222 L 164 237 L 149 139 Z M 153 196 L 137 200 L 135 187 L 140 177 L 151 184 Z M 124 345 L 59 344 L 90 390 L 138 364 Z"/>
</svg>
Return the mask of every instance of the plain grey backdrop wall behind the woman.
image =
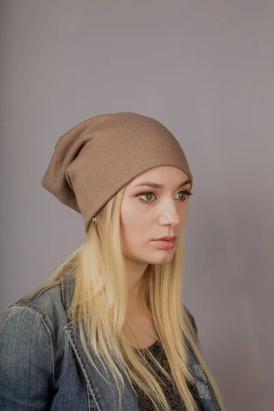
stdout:
<svg viewBox="0 0 274 411">
<path fill-rule="evenodd" d="M 58 138 L 107 112 L 155 116 L 194 195 L 183 297 L 229 411 L 273 397 L 274 3 L 1 1 L 1 307 L 84 240 L 40 185 Z"/>
</svg>

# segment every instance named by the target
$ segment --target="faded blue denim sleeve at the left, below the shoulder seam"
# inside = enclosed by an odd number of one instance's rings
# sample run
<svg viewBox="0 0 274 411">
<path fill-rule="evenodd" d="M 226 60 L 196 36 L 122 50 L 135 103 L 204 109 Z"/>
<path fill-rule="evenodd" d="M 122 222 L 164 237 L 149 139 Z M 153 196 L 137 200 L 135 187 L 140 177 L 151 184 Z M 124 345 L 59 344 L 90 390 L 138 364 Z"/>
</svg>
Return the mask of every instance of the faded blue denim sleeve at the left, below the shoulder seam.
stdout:
<svg viewBox="0 0 274 411">
<path fill-rule="evenodd" d="M 0 410 L 49 410 L 54 360 L 42 315 L 12 306 L 0 318 Z"/>
</svg>

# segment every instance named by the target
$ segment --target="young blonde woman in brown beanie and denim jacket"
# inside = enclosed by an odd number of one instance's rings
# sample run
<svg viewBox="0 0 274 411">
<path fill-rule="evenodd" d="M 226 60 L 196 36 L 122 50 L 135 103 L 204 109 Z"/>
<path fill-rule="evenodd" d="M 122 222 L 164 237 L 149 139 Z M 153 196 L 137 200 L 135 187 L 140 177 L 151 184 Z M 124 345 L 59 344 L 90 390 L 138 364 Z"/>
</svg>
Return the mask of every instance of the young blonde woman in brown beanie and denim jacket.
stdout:
<svg viewBox="0 0 274 411">
<path fill-rule="evenodd" d="M 3 312 L 0 409 L 223 411 L 182 303 L 192 174 L 173 134 L 140 114 L 92 117 L 58 140 L 42 186 L 86 237 Z"/>
</svg>

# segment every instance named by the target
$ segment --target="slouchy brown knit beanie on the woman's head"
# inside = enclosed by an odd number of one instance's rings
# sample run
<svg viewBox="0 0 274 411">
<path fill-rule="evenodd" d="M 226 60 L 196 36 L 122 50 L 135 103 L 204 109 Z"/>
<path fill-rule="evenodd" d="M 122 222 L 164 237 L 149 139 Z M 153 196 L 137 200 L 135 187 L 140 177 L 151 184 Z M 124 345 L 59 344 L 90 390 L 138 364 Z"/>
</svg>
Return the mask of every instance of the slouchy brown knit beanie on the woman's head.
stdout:
<svg viewBox="0 0 274 411">
<path fill-rule="evenodd" d="M 102 114 L 59 138 L 42 186 L 82 214 L 88 232 L 92 217 L 116 192 L 157 166 L 184 171 L 192 187 L 184 151 L 164 125 L 131 112 Z"/>
</svg>

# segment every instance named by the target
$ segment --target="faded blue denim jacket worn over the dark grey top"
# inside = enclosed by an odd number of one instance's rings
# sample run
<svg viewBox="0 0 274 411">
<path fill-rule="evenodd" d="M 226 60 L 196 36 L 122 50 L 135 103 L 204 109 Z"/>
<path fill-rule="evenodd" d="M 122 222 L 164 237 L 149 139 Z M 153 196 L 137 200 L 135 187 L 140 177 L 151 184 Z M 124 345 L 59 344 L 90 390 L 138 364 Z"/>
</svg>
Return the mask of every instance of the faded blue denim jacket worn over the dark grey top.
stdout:
<svg viewBox="0 0 274 411">
<path fill-rule="evenodd" d="M 0 317 L 1 411 L 114 411 L 119 410 L 115 384 L 106 384 L 86 357 L 77 325 L 68 318 L 73 297 L 71 275 L 62 284 L 29 292 Z M 189 313 L 190 314 L 190 313 Z M 191 314 L 190 314 L 191 316 Z M 114 383 L 101 362 L 92 359 Z M 190 369 L 206 411 L 219 411 L 208 381 L 192 353 Z M 136 394 L 125 373 L 121 411 L 138 411 Z"/>
</svg>

